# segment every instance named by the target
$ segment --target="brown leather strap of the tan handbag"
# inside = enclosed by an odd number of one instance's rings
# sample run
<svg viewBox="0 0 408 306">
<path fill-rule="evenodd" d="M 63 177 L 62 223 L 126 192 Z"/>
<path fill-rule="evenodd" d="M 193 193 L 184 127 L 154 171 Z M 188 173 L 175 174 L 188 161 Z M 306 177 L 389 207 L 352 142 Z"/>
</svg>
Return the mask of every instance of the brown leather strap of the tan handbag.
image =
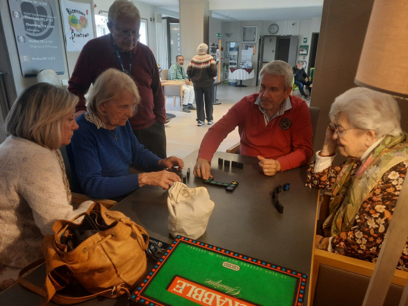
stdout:
<svg viewBox="0 0 408 306">
<path fill-rule="evenodd" d="M 45 290 L 45 288 L 39 287 L 39 286 L 31 283 L 27 279 L 23 278 L 23 275 L 25 273 L 27 273 L 28 271 L 30 271 L 33 268 L 39 267 L 44 262 L 45 262 L 45 259 L 40 259 L 40 260 L 37 260 L 37 261 L 29 264 L 27 267 L 22 268 L 21 271 L 18 273 L 17 282 L 21 286 L 23 286 L 23 287 L 37 293 L 38 295 L 41 295 L 41 296 L 45 297 L 46 300 L 43 302 L 43 305 L 46 305 L 48 303 L 48 301 L 49 301 L 49 298 L 47 297 L 47 290 Z M 99 294 L 113 292 L 114 290 L 125 291 L 127 293 L 127 295 L 130 296 L 129 290 L 127 290 L 126 288 L 121 287 L 121 285 L 116 285 L 112 289 L 107 289 L 107 290 L 100 291 L 98 293 L 94 293 L 94 294 L 86 295 L 86 296 L 80 296 L 80 297 L 72 297 L 72 296 L 66 296 L 66 295 L 61 295 L 61 294 L 55 294 L 53 297 L 50 298 L 50 300 L 52 300 L 52 301 L 54 301 L 56 303 L 59 303 L 59 304 L 76 304 L 76 303 L 80 303 L 80 302 L 83 302 L 83 301 L 90 300 L 90 299 L 96 297 Z"/>
</svg>

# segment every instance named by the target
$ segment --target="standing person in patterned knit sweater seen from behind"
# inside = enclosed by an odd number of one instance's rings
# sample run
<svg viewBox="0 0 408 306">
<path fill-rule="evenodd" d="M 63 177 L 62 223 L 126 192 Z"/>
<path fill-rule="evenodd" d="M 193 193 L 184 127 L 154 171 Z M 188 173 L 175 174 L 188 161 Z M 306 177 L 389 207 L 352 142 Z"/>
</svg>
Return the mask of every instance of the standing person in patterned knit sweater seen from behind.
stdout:
<svg viewBox="0 0 408 306">
<path fill-rule="evenodd" d="M 195 104 L 197 106 L 197 125 L 213 124 L 213 83 L 217 77 L 217 64 L 214 58 L 207 54 L 208 45 L 200 43 L 198 55 L 193 56 L 187 67 L 187 75 L 194 86 Z M 203 99 L 204 96 L 204 99 Z M 204 112 L 204 105 L 206 112 Z"/>
</svg>

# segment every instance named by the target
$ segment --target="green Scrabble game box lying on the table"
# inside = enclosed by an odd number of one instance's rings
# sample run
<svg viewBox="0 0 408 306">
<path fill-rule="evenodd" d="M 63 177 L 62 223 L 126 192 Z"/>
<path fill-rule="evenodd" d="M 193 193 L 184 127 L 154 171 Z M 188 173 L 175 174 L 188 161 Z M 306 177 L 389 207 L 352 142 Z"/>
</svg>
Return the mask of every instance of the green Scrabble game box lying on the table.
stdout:
<svg viewBox="0 0 408 306">
<path fill-rule="evenodd" d="M 177 236 L 131 294 L 148 306 L 301 306 L 307 274 Z"/>
</svg>

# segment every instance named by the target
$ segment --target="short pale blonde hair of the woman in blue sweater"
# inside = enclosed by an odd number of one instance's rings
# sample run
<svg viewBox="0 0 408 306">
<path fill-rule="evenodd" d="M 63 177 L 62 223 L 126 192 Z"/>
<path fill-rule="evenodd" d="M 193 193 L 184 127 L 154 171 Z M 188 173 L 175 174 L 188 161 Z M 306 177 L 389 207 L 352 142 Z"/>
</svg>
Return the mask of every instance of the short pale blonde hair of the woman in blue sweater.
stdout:
<svg viewBox="0 0 408 306">
<path fill-rule="evenodd" d="M 135 114 L 140 103 L 140 95 L 135 81 L 126 73 L 109 68 L 102 72 L 93 84 L 86 107 L 96 115 L 106 115 L 100 110 L 100 106 L 105 102 L 122 97 L 123 92 L 129 92 L 135 97 L 135 105 L 132 109 L 133 114 Z"/>
</svg>

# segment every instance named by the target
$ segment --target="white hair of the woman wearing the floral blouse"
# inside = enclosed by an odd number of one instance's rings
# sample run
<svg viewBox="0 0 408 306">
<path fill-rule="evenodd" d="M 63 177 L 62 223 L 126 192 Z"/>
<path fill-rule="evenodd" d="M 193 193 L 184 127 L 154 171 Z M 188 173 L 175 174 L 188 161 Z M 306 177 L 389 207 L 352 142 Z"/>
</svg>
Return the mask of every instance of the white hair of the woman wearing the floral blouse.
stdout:
<svg viewBox="0 0 408 306">
<path fill-rule="evenodd" d="M 357 129 L 374 130 L 378 138 L 399 136 L 401 112 L 392 95 L 372 89 L 355 87 L 339 95 L 331 105 L 330 120 L 337 121 L 339 113 Z"/>
</svg>

